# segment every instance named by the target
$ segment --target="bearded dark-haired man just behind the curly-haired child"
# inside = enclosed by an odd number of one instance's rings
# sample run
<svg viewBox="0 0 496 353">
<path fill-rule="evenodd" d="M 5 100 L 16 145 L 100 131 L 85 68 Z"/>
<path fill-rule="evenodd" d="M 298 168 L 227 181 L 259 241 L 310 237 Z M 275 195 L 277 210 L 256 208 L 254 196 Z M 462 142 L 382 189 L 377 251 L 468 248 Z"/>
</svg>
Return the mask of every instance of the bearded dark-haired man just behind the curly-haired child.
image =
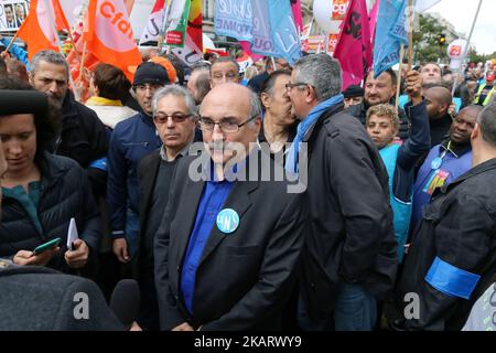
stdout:
<svg viewBox="0 0 496 353">
<path fill-rule="evenodd" d="M 385 71 L 378 77 L 374 77 L 374 72 L 370 72 L 365 81 L 364 100 L 360 104 L 348 107 L 347 111 L 355 118 L 358 118 L 362 125 L 365 126 L 369 107 L 381 103 L 395 105 L 396 87 L 397 76 L 392 69 Z M 400 121 L 398 137 L 401 140 L 406 140 L 410 133 L 410 122 L 402 108 L 398 108 L 398 117 Z"/>
</svg>

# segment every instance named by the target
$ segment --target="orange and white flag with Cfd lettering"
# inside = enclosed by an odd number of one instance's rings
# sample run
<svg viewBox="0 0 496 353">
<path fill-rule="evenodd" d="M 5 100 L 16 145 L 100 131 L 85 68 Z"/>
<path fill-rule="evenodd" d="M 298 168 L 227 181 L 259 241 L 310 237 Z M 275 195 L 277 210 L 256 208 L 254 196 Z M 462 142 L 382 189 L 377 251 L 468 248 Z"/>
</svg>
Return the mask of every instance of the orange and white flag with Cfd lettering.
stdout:
<svg viewBox="0 0 496 353">
<path fill-rule="evenodd" d="M 83 39 L 95 57 L 121 68 L 132 79 L 128 67 L 141 63 L 141 54 L 122 0 L 89 0 Z"/>
</svg>

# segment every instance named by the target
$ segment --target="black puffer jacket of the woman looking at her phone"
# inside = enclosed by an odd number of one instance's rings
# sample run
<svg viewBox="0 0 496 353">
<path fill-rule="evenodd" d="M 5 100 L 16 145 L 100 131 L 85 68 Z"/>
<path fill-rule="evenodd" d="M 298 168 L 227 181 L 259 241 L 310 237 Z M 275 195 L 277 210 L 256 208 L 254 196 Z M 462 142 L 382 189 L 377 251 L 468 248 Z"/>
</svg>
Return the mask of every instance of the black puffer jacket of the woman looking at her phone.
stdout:
<svg viewBox="0 0 496 353">
<path fill-rule="evenodd" d="M 36 231 L 28 213 L 14 199 L 2 197 L 0 223 L 0 257 L 12 257 L 19 250 L 33 250 L 36 246 L 61 237 L 61 250 L 48 267 L 74 272 L 65 263 L 67 231 L 71 217 L 76 220 L 79 238 L 90 248 L 98 249 L 101 221 L 89 192 L 86 172 L 73 160 L 45 153 L 41 170 L 37 215 L 43 234 Z"/>
</svg>

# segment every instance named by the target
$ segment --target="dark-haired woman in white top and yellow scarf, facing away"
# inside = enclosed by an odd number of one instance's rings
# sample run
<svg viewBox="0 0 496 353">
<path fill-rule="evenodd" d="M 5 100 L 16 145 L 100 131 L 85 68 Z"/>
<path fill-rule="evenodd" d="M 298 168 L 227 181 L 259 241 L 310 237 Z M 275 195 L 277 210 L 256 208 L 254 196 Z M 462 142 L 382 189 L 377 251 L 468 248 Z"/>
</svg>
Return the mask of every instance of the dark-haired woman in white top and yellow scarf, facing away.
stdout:
<svg viewBox="0 0 496 353">
<path fill-rule="evenodd" d="M 131 83 L 120 68 L 98 64 L 89 79 L 89 89 L 95 95 L 86 100 L 86 106 L 96 111 L 101 122 L 114 129 L 117 122 L 138 114 L 121 103 L 130 88 Z"/>
</svg>

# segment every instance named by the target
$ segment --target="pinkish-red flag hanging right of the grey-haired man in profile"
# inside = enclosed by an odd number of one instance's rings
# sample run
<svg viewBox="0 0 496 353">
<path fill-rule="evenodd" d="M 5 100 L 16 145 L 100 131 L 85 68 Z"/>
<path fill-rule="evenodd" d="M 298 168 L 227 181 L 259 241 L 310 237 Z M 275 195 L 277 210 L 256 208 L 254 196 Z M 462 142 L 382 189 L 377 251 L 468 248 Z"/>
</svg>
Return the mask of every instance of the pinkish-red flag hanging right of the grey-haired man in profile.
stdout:
<svg viewBox="0 0 496 353">
<path fill-rule="evenodd" d="M 365 0 L 352 0 L 334 52 L 334 57 L 339 61 L 343 69 L 343 90 L 349 85 L 359 85 L 371 66 L 373 49 L 369 31 Z"/>
</svg>

